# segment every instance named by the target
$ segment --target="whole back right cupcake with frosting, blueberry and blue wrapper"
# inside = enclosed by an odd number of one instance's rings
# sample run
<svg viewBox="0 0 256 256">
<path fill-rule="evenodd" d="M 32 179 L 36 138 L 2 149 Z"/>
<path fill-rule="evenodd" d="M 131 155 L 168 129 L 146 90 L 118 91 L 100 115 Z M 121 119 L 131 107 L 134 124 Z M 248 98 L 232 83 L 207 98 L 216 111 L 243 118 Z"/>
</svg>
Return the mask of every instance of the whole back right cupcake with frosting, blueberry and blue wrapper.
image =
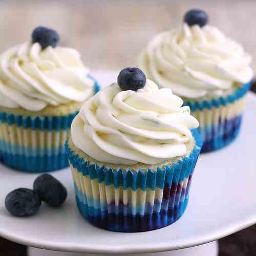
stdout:
<svg viewBox="0 0 256 256">
<path fill-rule="evenodd" d="M 139 58 L 147 77 L 172 89 L 199 120 L 202 152 L 237 137 L 253 77 L 242 46 L 207 23 L 204 11 L 190 10 L 180 28 L 158 34 Z"/>
</svg>

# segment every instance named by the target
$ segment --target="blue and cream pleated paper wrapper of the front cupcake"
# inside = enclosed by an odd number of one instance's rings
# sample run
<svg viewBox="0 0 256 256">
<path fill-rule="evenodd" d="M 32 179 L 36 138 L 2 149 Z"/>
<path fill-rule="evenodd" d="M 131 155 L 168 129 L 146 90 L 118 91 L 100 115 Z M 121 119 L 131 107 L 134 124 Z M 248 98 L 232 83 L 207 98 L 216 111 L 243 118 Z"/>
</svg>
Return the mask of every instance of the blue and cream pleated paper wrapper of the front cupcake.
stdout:
<svg viewBox="0 0 256 256">
<path fill-rule="evenodd" d="M 191 178 L 202 142 L 189 156 L 147 172 L 107 168 L 84 161 L 66 142 L 76 202 L 82 216 L 100 228 L 139 232 L 177 221 L 186 209 Z"/>
</svg>

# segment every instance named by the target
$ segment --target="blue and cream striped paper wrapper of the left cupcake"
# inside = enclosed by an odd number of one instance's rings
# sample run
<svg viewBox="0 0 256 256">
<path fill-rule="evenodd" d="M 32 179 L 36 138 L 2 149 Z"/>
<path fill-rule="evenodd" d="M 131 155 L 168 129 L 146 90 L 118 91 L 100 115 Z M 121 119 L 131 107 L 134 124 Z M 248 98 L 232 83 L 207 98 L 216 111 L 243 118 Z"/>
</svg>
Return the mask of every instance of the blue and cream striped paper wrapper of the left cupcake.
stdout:
<svg viewBox="0 0 256 256">
<path fill-rule="evenodd" d="M 95 82 L 95 93 L 99 91 Z M 69 165 L 65 141 L 78 111 L 66 116 L 31 117 L 0 112 L 0 160 L 30 173 L 52 172 Z"/>
</svg>

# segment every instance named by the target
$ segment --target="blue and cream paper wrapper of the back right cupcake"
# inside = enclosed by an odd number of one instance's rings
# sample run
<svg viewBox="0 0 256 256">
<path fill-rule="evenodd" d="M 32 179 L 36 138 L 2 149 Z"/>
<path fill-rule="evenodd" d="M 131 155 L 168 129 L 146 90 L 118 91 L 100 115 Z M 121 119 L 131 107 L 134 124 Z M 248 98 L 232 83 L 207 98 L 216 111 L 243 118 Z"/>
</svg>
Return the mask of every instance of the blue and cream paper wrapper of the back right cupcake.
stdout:
<svg viewBox="0 0 256 256">
<path fill-rule="evenodd" d="M 190 114 L 200 123 L 203 147 L 201 152 L 211 152 L 230 144 L 239 134 L 245 106 L 245 95 L 251 82 L 232 94 L 218 99 L 186 101 Z"/>
</svg>

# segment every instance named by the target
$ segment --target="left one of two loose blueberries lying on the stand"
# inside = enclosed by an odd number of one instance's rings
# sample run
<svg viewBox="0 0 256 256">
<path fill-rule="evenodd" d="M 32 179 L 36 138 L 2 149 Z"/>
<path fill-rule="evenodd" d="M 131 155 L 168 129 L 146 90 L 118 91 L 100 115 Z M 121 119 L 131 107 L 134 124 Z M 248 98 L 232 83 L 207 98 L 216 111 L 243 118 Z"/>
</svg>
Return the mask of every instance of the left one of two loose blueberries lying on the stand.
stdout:
<svg viewBox="0 0 256 256">
<path fill-rule="evenodd" d="M 41 205 L 41 199 L 29 188 L 17 188 L 5 198 L 5 207 L 14 216 L 27 217 L 34 215 Z"/>
</svg>

